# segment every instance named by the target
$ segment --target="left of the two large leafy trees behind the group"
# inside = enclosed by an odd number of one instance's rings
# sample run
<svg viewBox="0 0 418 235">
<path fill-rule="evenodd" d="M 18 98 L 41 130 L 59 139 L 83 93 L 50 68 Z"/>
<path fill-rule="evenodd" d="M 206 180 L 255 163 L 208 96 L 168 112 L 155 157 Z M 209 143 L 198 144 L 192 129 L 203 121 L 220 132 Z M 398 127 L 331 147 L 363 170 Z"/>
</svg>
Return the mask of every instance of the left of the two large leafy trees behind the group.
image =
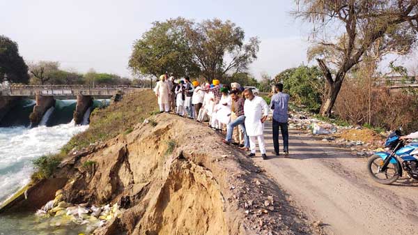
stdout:
<svg viewBox="0 0 418 235">
<path fill-rule="evenodd" d="M 132 72 L 154 77 L 166 72 L 176 77 L 199 75 L 199 66 L 192 60 L 185 38 L 187 24 L 190 22 L 181 17 L 153 22 L 153 27 L 134 43 L 129 61 Z"/>
</svg>

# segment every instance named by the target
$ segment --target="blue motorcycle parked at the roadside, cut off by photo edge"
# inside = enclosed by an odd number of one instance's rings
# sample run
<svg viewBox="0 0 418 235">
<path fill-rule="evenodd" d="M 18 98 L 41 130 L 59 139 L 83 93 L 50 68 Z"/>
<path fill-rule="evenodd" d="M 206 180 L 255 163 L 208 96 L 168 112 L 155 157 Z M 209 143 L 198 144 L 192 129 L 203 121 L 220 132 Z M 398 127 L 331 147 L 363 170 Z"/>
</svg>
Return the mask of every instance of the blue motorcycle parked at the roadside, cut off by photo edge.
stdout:
<svg viewBox="0 0 418 235">
<path fill-rule="evenodd" d="M 374 181 L 394 183 L 402 176 L 403 170 L 412 179 L 418 180 L 418 143 L 406 144 L 401 139 L 401 132 L 396 130 L 387 137 L 385 148 L 367 162 L 367 171 Z"/>
</svg>

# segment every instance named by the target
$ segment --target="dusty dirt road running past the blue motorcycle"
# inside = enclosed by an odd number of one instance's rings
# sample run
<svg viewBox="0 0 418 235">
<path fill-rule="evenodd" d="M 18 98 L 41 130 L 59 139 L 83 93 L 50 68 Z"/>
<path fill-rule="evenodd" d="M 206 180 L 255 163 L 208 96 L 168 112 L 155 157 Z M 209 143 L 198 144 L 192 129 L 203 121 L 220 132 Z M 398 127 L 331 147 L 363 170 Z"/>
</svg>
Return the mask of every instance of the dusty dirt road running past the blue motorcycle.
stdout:
<svg viewBox="0 0 418 235">
<path fill-rule="evenodd" d="M 271 122 L 265 139 L 270 159 L 261 160 L 258 153 L 257 165 L 299 202 L 310 220 L 321 220 L 326 234 L 418 234 L 417 182 L 375 183 L 367 175 L 366 158 L 296 130 L 290 132 L 291 155 L 272 156 Z"/>
</svg>

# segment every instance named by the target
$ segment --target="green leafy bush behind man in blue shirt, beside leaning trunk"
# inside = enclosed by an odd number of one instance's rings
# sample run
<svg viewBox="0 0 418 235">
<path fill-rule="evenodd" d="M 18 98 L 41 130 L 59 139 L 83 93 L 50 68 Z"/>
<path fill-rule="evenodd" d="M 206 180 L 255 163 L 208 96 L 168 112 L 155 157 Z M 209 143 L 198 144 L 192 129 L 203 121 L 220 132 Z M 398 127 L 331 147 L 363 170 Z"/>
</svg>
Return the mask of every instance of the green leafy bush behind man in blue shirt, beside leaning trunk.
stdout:
<svg viewBox="0 0 418 235">
<path fill-rule="evenodd" d="M 284 90 L 291 95 L 295 103 L 319 111 L 325 90 L 325 79 L 318 67 L 299 66 L 286 69 L 276 75 L 274 82 L 283 82 Z"/>
</svg>

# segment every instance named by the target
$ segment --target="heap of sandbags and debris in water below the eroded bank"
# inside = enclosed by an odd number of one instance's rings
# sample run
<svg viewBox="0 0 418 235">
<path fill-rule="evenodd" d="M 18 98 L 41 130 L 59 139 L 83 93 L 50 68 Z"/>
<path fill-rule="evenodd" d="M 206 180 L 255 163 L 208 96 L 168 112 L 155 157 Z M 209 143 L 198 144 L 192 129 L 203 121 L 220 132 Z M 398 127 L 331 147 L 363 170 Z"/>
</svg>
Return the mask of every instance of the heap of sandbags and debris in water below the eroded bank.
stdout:
<svg viewBox="0 0 418 235">
<path fill-rule="evenodd" d="M 121 215 L 121 210 L 118 204 L 111 206 L 97 207 L 87 204 L 70 204 L 63 201 L 62 191 L 58 190 L 55 193 L 54 200 L 51 200 L 36 211 L 36 215 L 40 217 L 54 217 L 54 220 L 49 222 L 52 227 L 69 225 L 75 223 L 77 225 L 86 225 L 87 233 L 93 232 L 96 228 L 102 227 L 107 221 L 113 218 L 118 218 Z M 56 219 L 55 219 L 56 218 Z"/>
</svg>

